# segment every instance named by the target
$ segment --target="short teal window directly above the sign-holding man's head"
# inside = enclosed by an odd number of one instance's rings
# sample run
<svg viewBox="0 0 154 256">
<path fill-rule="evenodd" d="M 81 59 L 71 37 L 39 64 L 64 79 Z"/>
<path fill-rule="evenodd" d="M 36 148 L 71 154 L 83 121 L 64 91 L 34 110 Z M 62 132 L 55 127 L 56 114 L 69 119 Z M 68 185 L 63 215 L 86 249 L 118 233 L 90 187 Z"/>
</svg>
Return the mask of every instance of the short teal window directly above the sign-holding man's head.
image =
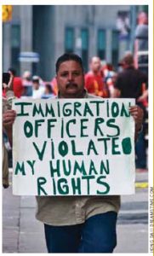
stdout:
<svg viewBox="0 0 154 256">
<path fill-rule="evenodd" d="M 65 34 L 65 51 L 72 53 L 74 50 L 74 29 L 71 27 L 66 28 Z"/>
</svg>

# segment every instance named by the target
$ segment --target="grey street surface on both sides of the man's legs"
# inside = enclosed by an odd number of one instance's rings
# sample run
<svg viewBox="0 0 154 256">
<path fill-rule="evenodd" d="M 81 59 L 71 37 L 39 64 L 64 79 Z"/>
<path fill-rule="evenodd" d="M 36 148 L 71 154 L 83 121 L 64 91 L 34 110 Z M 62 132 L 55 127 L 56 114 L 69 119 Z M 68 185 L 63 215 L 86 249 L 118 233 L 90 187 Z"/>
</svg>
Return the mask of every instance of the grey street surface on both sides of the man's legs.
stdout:
<svg viewBox="0 0 154 256">
<path fill-rule="evenodd" d="M 148 173 L 136 173 L 135 195 L 122 196 L 114 253 L 148 252 Z M 14 196 L 3 189 L 3 253 L 47 253 L 43 224 L 35 218 L 34 196 Z"/>
</svg>

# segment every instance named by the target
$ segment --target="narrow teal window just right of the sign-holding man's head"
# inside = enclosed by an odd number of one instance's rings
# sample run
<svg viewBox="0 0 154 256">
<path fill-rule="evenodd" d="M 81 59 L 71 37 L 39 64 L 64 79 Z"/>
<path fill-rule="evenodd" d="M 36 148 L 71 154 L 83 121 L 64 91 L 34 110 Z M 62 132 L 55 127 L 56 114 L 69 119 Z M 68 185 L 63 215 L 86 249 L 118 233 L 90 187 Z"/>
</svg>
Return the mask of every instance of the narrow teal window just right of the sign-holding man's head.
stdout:
<svg viewBox="0 0 154 256">
<path fill-rule="evenodd" d="M 82 59 L 84 70 L 88 70 L 88 29 L 83 28 L 81 31 L 82 38 Z"/>
</svg>

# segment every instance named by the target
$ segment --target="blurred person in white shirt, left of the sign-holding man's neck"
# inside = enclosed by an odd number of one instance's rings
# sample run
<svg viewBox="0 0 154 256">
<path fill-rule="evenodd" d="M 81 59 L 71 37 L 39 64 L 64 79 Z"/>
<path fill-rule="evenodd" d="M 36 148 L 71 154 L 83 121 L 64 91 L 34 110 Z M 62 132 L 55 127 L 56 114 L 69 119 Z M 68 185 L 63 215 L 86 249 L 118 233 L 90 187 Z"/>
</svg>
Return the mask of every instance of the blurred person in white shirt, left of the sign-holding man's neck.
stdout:
<svg viewBox="0 0 154 256">
<path fill-rule="evenodd" d="M 32 98 L 41 99 L 45 91 L 43 80 L 38 76 L 32 77 Z"/>
</svg>

